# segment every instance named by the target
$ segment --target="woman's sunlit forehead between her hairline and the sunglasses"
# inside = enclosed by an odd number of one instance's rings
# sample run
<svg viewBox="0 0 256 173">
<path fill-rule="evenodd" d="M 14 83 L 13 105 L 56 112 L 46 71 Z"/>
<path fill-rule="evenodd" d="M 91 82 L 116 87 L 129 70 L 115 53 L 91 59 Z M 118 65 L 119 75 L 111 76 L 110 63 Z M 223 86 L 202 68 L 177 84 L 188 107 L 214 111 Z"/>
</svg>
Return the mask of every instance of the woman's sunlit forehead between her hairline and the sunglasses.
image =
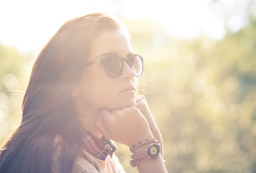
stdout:
<svg viewBox="0 0 256 173">
<path fill-rule="evenodd" d="M 122 30 L 102 32 L 93 40 L 88 60 L 93 60 L 99 55 L 107 52 L 115 52 L 119 56 L 125 56 L 128 53 L 132 53 L 133 50 L 128 34 Z"/>
</svg>

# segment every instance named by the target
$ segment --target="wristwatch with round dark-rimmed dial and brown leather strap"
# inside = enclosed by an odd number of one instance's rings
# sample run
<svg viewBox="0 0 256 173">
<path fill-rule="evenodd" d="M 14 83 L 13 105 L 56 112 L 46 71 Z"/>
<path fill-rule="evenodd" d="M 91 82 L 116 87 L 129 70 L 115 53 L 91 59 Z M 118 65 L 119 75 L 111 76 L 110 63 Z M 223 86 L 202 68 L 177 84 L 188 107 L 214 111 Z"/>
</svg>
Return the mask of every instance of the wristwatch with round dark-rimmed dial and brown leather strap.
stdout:
<svg viewBox="0 0 256 173">
<path fill-rule="evenodd" d="M 150 144 L 148 149 L 145 150 L 143 153 L 131 154 L 130 165 L 131 167 L 135 167 L 137 163 L 146 157 L 157 157 L 161 150 L 161 144 Z"/>
</svg>

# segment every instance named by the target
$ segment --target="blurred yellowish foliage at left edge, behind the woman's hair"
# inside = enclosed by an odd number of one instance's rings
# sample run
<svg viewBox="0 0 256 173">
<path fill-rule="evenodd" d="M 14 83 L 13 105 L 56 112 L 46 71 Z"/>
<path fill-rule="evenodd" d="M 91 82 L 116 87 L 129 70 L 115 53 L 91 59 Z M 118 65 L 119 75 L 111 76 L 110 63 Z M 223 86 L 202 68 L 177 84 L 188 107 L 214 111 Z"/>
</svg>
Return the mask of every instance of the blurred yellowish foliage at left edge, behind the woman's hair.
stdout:
<svg viewBox="0 0 256 173">
<path fill-rule="evenodd" d="M 0 44 L 0 142 L 6 140 L 20 122 L 27 62 L 15 48 Z"/>
</svg>

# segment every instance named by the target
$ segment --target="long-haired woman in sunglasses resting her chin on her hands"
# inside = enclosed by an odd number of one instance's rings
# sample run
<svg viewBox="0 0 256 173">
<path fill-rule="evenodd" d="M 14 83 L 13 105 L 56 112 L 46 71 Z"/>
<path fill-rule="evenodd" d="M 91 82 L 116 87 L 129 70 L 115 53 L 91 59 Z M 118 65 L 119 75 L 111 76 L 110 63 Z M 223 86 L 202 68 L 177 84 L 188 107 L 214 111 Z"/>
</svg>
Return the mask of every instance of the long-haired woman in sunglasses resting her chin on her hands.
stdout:
<svg viewBox="0 0 256 173">
<path fill-rule="evenodd" d="M 35 61 L 0 173 L 122 173 L 113 141 L 130 147 L 140 173 L 167 172 L 160 131 L 145 97 L 136 97 L 142 71 L 116 20 L 101 13 L 68 20 Z"/>
</svg>

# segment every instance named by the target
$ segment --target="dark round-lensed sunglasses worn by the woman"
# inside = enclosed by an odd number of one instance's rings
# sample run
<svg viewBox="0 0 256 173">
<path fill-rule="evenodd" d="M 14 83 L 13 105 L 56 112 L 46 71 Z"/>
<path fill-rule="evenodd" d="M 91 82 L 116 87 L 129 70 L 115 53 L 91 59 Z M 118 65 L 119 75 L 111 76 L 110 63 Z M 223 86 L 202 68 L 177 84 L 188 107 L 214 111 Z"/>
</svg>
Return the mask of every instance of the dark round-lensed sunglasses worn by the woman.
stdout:
<svg viewBox="0 0 256 173">
<path fill-rule="evenodd" d="M 102 63 L 106 74 L 110 78 L 118 78 L 123 71 L 123 62 L 126 62 L 131 70 L 135 73 L 136 77 L 139 77 L 143 72 L 143 57 L 138 54 L 133 54 L 128 58 L 120 58 L 117 55 L 108 55 L 104 58 L 96 59 L 85 66 L 90 66 L 94 63 Z"/>
</svg>

